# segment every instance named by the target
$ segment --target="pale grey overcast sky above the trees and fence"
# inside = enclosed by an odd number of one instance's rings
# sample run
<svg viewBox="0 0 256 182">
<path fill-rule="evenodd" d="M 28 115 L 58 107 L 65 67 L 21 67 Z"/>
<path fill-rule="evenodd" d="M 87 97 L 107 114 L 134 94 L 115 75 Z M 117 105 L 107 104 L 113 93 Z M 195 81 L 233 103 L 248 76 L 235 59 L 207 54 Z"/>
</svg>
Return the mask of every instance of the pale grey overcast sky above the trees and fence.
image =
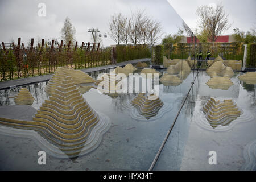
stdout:
<svg viewBox="0 0 256 182">
<path fill-rule="evenodd" d="M 136 9 L 145 10 L 152 19 L 162 24 L 164 35 L 178 31 L 182 19 L 193 29 L 197 25 L 195 11 L 200 5 L 222 2 L 233 23 L 225 35 L 232 34 L 233 28 L 247 31 L 256 19 L 255 0 L 0 0 L 0 41 L 17 42 L 18 37 L 27 44 L 31 38 L 60 39 L 64 19 L 68 16 L 76 28 L 76 40 L 81 44 L 91 42 L 89 28 L 98 28 L 102 35 L 108 34 L 109 18 L 114 13 L 130 16 Z M 38 16 L 38 4 L 45 3 L 46 16 Z M 171 6 L 171 5 L 172 6 Z M 174 9 L 172 8 L 174 7 Z M 181 19 L 181 18 L 182 19 Z M 163 35 L 163 36 L 164 36 Z M 104 46 L 114 44 L 102 36 Z M 160 41 L 160 40 L 159 40 Z"/>
</svg>

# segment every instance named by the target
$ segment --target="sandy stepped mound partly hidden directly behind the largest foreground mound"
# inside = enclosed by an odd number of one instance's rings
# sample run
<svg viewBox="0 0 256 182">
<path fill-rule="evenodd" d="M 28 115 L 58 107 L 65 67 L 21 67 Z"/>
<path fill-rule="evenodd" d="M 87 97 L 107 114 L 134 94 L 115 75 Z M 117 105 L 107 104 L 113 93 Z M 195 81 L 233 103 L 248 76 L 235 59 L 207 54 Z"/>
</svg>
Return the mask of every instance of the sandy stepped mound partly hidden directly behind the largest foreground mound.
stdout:
<svg viewBox="0 0 256 182">
<path fill-rule="evenodd" d="M 96 82 L 95 80 L 93 80 L 92 77 L 82 72 L 81 70 L 70 69 L 67 67 L 58 67 L 56 69 L 56 72 L 53 74 L 48 84 L 46 85 L 44 91 L 48 95 L 54 93 L 54 90 L 61 84 L 61 80 L 63 80 L 63 78 L 66 76 L 71 76 L 73 82 L 76 85 Z"/>
</svg>

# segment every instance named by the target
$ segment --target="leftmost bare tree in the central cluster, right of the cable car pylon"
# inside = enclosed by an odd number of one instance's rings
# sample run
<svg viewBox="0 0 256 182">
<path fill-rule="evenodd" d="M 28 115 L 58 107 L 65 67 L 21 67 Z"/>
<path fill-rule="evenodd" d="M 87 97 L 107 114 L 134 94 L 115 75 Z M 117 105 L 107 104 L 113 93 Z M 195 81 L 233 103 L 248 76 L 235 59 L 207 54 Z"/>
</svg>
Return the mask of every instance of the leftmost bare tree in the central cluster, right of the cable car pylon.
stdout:
<svg viewBox="0 0 256 182">
<path fill-rule="evenodd" d="M 109 35 L 117 45 L 122 42 L 122 32 L 125 28 L 126 21 L 127 18 L 125 18 L 121 13 L 112 15 L 109 20 Z"/>
</svg>

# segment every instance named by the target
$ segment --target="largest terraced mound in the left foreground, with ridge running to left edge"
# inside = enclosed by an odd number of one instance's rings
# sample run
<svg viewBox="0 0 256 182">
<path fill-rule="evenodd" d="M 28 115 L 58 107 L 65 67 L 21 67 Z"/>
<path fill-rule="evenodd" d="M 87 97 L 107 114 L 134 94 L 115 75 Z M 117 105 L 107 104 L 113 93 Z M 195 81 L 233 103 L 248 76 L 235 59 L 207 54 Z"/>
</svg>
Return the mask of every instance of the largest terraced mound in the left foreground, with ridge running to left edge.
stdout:
<svg viewBox="0 0 256 182">
<path fill-rule="evenodd" d="M 71 158 L 86 154 L 100 144 L 102 134 L 109 129 L 106 118 L 88 105 L 71 77 L 64 77 L 49 100 L 40 106 L 33 121 L 1 118 L 0 123 L 38 131 L 50 143 L 46 147 L 53 155 Z"/>
</svg>

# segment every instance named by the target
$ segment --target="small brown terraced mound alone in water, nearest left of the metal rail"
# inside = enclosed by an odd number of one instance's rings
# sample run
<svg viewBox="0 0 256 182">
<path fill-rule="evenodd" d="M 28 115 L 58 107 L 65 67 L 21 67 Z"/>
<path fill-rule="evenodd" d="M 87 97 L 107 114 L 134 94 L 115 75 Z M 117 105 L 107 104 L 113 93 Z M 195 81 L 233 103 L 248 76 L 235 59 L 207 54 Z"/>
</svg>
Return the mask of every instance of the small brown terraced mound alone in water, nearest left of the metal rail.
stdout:
<svg viewBox="0 0 256 182">
<path fill-rule="evenodd" d="M 139 111 L 139 114 L 143 115 L 146 119 L 156 116 L 163 106 L 163 102 L 159 97 L 155 100 L 148 100 L 144 93 L 139 93 L 131 101 L 131 104 L 135 106 Z"/>
</svg>

